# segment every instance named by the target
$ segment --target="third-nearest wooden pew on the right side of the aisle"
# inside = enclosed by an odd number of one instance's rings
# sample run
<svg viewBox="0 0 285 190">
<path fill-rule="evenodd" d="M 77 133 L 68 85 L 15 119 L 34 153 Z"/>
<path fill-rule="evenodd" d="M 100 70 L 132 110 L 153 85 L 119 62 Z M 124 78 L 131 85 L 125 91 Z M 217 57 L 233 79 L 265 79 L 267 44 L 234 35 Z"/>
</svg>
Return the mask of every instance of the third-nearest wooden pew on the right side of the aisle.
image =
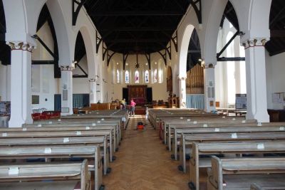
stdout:
<svg viewBox="0 0 285 190">
<path fill-rule="evenodd" d="M 243 141 L 285 141 L 285 132 L 250 132 L 250 133 L 212 133 L 212 134 L 182 134 L 180 139 L 180 170 L 186 172 L 186 149 L 194 142 L 243 142 Z"/>
</svg>

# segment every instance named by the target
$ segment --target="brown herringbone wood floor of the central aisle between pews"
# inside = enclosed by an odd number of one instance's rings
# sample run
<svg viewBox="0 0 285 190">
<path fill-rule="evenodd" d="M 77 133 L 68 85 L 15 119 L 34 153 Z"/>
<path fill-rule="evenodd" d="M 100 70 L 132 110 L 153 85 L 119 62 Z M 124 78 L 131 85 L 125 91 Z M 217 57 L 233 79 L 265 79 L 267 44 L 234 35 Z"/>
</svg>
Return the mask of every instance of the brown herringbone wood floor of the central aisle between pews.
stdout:
<svg viewBox="0 0 285 190">
<path fill-rule="evenodd" d="M 145 123 L 145 130 L 135 130 L 138 122 Z M 112 171 L 103 177 L 105 189 L 188 189 L 189 174 L 178 171 L 179 162 L 170 159 L 144 115 L 130 117 L 123 133 Z"/>
</svg>

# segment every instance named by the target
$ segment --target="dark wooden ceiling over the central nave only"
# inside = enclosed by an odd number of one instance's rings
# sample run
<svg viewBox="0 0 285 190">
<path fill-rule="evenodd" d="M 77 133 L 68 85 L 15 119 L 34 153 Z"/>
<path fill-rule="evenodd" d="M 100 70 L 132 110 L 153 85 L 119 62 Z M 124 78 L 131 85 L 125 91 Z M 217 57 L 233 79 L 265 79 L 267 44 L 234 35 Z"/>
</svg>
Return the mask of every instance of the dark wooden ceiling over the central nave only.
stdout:
<svg viewBox="0 0 285 190">
<path fill-rule="evenodd" d="M 190 0 L 87 0 L 84 5 L 108 49 L 153 53 L 165 49 Z"/>
</svg>

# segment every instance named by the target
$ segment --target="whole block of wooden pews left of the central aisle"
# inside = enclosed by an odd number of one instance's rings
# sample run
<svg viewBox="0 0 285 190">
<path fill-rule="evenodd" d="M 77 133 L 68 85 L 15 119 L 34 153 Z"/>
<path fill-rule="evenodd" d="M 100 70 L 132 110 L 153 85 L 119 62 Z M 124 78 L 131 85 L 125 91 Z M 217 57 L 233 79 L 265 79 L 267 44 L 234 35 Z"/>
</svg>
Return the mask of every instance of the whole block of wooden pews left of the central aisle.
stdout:
<svg viewBox="0 0 285 190">
<path fill-rule="evenodd" d="M 0 128 L 0 189 L 104 189 L 127 122 L 125 110 L 100 110 Z"/>
</svg>

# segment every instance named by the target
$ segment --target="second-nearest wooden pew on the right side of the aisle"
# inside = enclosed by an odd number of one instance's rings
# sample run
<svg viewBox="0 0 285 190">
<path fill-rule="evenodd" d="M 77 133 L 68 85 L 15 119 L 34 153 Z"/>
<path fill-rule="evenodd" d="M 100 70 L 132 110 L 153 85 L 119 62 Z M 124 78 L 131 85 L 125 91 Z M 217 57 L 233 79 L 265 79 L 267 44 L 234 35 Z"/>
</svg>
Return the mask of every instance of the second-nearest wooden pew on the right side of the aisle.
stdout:
<svg viewBox="0 0 285 190">
<path fill-rule="evenodd" d="M 197 143 L 192 146 L 190 158 L 190 188 L 199 189 L 199 168 L 211 167 L 210 159 L 200 159 L 200 155 L 212 154 L 265 154 L 284 153 L 285 141 L 261 142 L 249 139 L 247 142 L 224 142 L 224 143 Z M 285 166 L 284 166 L 285 167 Z"/>
</svg>

